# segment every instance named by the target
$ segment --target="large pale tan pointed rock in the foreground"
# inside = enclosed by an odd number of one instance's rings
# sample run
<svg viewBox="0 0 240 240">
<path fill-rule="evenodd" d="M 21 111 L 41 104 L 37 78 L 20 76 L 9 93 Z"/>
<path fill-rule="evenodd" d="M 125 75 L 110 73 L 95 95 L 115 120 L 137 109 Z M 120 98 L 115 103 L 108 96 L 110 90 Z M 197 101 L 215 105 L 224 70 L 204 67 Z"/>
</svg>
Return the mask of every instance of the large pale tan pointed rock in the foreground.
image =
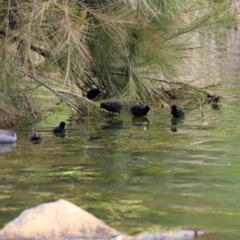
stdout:
<svg viewBox="0 0 240 240">
<path fill-rule="evenodd" d="M 66 200 L 27 209 L 0 230 L 0 240 L 109 239 L 118 236 L 121 236 L 120 232 Z"/>
</svg>

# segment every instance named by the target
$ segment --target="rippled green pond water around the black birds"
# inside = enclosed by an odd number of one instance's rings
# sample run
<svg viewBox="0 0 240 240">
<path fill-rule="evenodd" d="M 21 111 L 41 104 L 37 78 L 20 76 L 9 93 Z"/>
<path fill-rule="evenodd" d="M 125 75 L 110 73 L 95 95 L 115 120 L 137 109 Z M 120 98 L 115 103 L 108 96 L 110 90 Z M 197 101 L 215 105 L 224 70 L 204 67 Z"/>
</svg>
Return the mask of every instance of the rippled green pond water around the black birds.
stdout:
<svg viewBox="0 0 240 240">
<path fill-rule="evenodd" d="M 220 84 L 209 91 L 223 100 L 220 110 L 204 105 L 204 118 L 196 104 L 181 101 L 174 103 L 185 106 L 186 117 L 177 125 L 165 107 L 154 109 L 149 123 L 133 123 L 127 112 L 121 120 L 72 123 L 63 111 L 61 119 L 18 129 L 13 151 L 0 154 L 0 228 L 26 208 L 63 198 L 128 234 L 201 229 L 209 234 L 200 239 L 238 240 L 240 55 L 234 46 L 224 64 L 214 58 L 225 71 L 210 66 Z M 52 134 L 60 121 L 68 124 L 65 138 Z M 43 136 L 38 145 L 29 142 L 34 131 Z"/>
</svg>

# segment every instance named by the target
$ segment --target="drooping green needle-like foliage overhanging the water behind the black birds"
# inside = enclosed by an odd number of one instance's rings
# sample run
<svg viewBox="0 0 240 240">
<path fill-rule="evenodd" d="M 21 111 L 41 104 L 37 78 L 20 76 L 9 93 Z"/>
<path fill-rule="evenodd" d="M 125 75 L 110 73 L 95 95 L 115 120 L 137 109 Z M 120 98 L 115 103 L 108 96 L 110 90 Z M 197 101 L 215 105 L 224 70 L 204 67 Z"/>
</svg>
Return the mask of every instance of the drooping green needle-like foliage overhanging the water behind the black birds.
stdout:
<svg viewBox="0 0 240 240">
<path fill-rule="evenodd" d="M 161 104 L 165 88 L 149 77 L 177 76 L 188 34 L 232 23 L 230 10 L 231 1 L 0 1 L 1 107 L 36 118 L 31 95 L 43 88 L 93 114 L 99 104 L 82 94 L 96 85 L 105 98 Z"/>
</svg>

